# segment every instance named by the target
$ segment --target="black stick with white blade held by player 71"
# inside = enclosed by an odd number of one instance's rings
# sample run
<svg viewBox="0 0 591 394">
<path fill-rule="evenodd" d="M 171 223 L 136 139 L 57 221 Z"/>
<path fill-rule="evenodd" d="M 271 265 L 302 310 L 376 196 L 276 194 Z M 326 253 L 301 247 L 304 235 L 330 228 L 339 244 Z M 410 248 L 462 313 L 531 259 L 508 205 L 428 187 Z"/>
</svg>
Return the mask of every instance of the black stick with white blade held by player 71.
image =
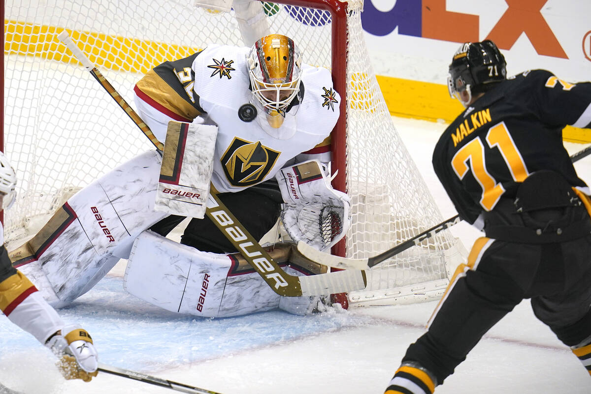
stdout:
<svg viewBox="0 0 591 394">
<path fill-rule="evenodd" d="M 577 153 L 574 153 L 574 155 L 570 156 L 570 159 L 573 160 L 574 163 L 589 155 L 591 155 L 591 145 Z M 460 215 L 453 216 L 453 218 L 449 218 L 446 221 L 421 232 L 421 234 L 415 235 L 415 237 L 410 238 L 407 241 L 404 241 L 401 244 L 398 244 L 395 247 L 382 252 L 381 254 L 369 258 L 345 258 L 334 256 L 317 251 L 316 249 L 310 247 L 310 245 L 301 241 L 298 242 L 297 249 L 302 255 L 304 255 L 304 257 L 308 258 L 309 260 L 327 265 L 329 267 L 341 268 L 342 270 L 369 270 L 369 268 L 378 265 L 382 261 L 385 261 L 388 258 L 399 254 L 400 252 L 404 252 L 408 248 L 414 247 L 414 245 L 420 245 L 420 243 L 425 239 L 431 238 L 438 232 L 450 228 L 454 224 L 457 224 L 461 221 L 462 219 L 460 218 Z"/>
</svg>

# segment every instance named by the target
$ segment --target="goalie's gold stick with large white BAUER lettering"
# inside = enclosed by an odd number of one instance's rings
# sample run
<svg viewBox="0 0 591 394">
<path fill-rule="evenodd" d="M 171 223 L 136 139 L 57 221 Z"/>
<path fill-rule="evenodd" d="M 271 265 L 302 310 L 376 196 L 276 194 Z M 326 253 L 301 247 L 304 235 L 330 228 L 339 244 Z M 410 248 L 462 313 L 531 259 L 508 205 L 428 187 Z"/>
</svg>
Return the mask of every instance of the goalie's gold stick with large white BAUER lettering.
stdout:
<svg viewBox="0 0 591 394">
<path fill-rule="evenodd" d="M 95 65 L 86 57 L 86 55 L 74 44 L 64 30 L 57 38 L 63 42 L 67 48 L 74 54 L 80 63 L 92 74 L 103 88 L 111 95 L 113 100 L 128 114 L 129 118 L 139 127 L 147 136 L 152 144 L 160 150 L 164 146 L 159 142 L 154 133 L 145 124 L 139 115 L 124 100 L 115 88 L 106 80 Z M 365 272 L 362 271 L 337 271 L 327 272 L 326 274 L 310 275 L 298 277 L 287 274 L 271 255 L 265 251 L 246 228 L 236 219 L 232 212 L 220 201 L 215 194 L 215 188 L 211 185 L 211 192 L 207 200 L 206 214 L 222 231 L 228 241 L 234 245 L 246 261 L 258 272 L 263 280 L 271 287 L 275 293 L 286 297 L 300 297 L 309 295 L 328 295 L 335 293 L 349 293 L 349 291 L 361 290 L 367 285 Z"/>
</svg>

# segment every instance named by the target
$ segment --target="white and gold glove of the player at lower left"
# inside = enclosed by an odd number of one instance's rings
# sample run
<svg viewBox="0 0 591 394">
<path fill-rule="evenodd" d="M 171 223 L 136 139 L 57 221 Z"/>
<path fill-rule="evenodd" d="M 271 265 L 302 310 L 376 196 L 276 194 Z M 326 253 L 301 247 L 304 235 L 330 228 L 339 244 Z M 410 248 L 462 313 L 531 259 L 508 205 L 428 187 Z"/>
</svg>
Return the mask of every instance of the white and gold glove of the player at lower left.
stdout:
<svg viewBox="0 0 591 394">
<path fill-rule="evenodd" d="M 78 326 L 64 327 L 50 337 L 45 346 L 60 358 L 57 367 L 66 379 L 90 382 L 98 373 L 98 354 L 86 330 Z"/>
</svg>

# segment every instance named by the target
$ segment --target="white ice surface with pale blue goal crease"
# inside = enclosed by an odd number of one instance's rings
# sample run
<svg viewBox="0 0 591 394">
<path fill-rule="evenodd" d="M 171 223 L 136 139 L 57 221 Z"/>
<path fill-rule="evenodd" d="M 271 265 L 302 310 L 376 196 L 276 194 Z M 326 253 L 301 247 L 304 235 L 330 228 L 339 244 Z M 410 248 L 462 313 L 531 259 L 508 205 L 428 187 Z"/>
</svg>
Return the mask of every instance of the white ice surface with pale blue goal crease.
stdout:
<svg viewBox="0 0 591 394">
<path fill-rule="evenodd" d="M 445 218 L 456 214 L 431 170 L 443 124 L 395 118 Z M 568 144 L 571 153 L 583 146 Z M 577 164 L 591 182 L 591 159 Z M 479 232 L 452 232 L 470 248 Z M 384 392 L 435 303 L 358 307 L 299 317 L 282 311 L 228 319 L 178 316 L 125 293 L 121 265 L 75 304 L 67 321 L 92 334 L 100 361 L 223 394 Z M 0 382 L 28 394 L 173 393 L 99 373 L 65 381 L 32 336 L 0 318 Z M 589 394 L 591 377 L 524 301 L 480 341 L 437 394 Z"/>
</svg>

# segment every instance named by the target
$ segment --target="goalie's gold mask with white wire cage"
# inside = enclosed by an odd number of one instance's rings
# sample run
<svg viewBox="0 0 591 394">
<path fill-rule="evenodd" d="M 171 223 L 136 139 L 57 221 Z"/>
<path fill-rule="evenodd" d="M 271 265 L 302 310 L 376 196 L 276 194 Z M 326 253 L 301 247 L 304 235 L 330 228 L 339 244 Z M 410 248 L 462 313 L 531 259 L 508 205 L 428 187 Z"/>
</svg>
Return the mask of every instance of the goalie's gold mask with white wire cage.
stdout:
<svg viewBox="0 0 591 394">
<path fill-rule="evenodd" d="M 248 52 L 248 65 L 255 103 L 262 106 L 269 125 L 278 129 L 300 91 L 300 51 L 291 38 L 265 35 Z"/>
</svg>

